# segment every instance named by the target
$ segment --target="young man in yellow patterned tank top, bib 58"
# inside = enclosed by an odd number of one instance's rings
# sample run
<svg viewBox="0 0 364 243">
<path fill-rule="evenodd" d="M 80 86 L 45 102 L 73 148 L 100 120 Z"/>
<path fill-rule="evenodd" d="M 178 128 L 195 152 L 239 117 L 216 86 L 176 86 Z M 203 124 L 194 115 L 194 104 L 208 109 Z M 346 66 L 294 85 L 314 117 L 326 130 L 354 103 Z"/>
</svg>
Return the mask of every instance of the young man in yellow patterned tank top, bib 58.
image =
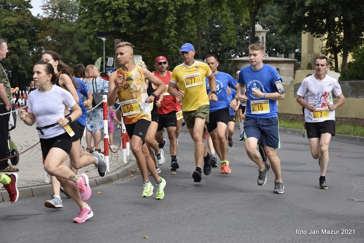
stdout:
<svg viewBox="0 0 364 243">
<path fill-rule="evenodd" d="M 165 84 L 148 69 L 135 67 L 132 63 L 133 46 L 129 42 L 116 45 L 117 61 L 121 69 L 113 72 L 109 77 L 109 94 L 107 103 L 114 104 L 116 95 L 122 107 L 122 116 L 125 128 L 131 138 L 131 149 L 143 177 L 143 197 L 153 194 L 153 186 L 148 178 L 148 171 L 157 183 L 156 199 L 163 199 L 165 179 L 160 177 L 155 170 L 152 158 L 149 156 L 144 137 L 150 124 L 150 108 L 156 97 L 163 93 Z M 157 89 L 150 96 L 147 95 L 145 79 L 155 84 Z M 128 122 L 128 123 L 127 123 Z"/>
</svg>

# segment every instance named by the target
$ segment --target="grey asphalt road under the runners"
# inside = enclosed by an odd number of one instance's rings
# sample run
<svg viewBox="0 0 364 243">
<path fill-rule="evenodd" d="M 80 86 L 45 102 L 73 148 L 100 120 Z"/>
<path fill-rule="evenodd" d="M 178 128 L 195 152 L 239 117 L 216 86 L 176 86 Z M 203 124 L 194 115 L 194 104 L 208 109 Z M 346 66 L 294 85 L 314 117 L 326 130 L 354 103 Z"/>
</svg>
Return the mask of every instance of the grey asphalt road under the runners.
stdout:
<svg viewBox="0 0 364 243">
<path fill-rule="evenodd" d="M 12 242 L 362 242 L 364 237 L 364 146 L 333 139 L 326 175 L 318 189 L 319 167 L 308 139 L 281 133 L 284 194 L 274 194 L 274 174 L 257 185 L 257 166 L 245 154 L 235 128 L 228 159 L 232 173 L 213 168 L 194 183 L 193 142 L 185 127 L 179 140 L 177 174 L 169 170 L 169 143 L 161 176 L 165 198 L 142 198 L 139 173 L 93 188 L 94 216 L 74 224 L 79 208 L 63 198 L 63 209 L 44 207 L 49 195 L 0 203 L 0 241 Z M 166 136 L 166 134 L 165 134 Z M 152 181 L 154 184 L 154 181 Z M 154 189 L 155 191 L 155 189 Z M 102 192 L 102 193 L 99 193 Z M 312 234 L 314 232 L 316 234 Z M 311 233 L 311 234 L 310 234 Z M 351 233 L 351 234 L 350 234 Z M 147 236 L 145 239 L 143 236 Z"/>
</svg>

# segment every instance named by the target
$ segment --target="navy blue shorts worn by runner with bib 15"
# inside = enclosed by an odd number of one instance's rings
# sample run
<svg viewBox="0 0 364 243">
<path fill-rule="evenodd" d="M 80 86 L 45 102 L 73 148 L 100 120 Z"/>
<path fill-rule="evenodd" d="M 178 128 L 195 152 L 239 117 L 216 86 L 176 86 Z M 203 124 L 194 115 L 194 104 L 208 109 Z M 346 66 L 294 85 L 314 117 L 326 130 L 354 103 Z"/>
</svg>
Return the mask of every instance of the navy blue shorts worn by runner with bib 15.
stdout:
<svg viewBox="0 0 364 243">
<path fill-rule="evenodd" d="M 260 141 L 261 136 L 263 136 L 263 142 L 266 146 L 271 148 L 281 148 L 278 125 L 278 117 L 246 117 L 246 121 L 244 122 L 244 140 L 248 138 L 256 138 Z"/>
</svg>

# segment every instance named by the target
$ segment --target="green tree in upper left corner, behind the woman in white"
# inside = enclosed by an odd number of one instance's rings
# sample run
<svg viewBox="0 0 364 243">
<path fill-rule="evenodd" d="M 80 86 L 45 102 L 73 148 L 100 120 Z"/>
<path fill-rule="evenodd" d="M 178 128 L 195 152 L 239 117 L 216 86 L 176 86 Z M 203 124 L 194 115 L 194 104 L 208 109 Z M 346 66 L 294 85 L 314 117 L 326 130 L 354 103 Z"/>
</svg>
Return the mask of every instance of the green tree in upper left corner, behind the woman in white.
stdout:
<svg viewBox="0 0 364 243">
<path fill-rule="evenodd" d="M 0 0 L 0 38 L 8 42 L 9 53 L 1 62 L 11 86 L 24 89 L 32 79 L 37 19 L 28 0 Z"/>
</svg>

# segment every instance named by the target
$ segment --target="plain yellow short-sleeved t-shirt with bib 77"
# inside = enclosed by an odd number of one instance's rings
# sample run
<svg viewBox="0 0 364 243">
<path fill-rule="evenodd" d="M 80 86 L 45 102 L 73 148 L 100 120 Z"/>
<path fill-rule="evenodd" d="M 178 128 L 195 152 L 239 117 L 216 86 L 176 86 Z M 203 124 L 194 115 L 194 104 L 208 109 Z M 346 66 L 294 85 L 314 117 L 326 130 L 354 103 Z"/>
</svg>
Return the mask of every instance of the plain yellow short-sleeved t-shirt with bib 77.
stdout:
<svg viewBox="0 0 364 243">
<path fill-rule="evenodd" d="M 193 111 L 205 104 L 210 104 L 206 92 L 206 77 L 211 75 L 210 67 L 203 62 L 195 61 L 191 66 L 184 63 L 173 69 L 171 82 L 179 84 L 184 91 L 182 111 Z"/>
</svg>

